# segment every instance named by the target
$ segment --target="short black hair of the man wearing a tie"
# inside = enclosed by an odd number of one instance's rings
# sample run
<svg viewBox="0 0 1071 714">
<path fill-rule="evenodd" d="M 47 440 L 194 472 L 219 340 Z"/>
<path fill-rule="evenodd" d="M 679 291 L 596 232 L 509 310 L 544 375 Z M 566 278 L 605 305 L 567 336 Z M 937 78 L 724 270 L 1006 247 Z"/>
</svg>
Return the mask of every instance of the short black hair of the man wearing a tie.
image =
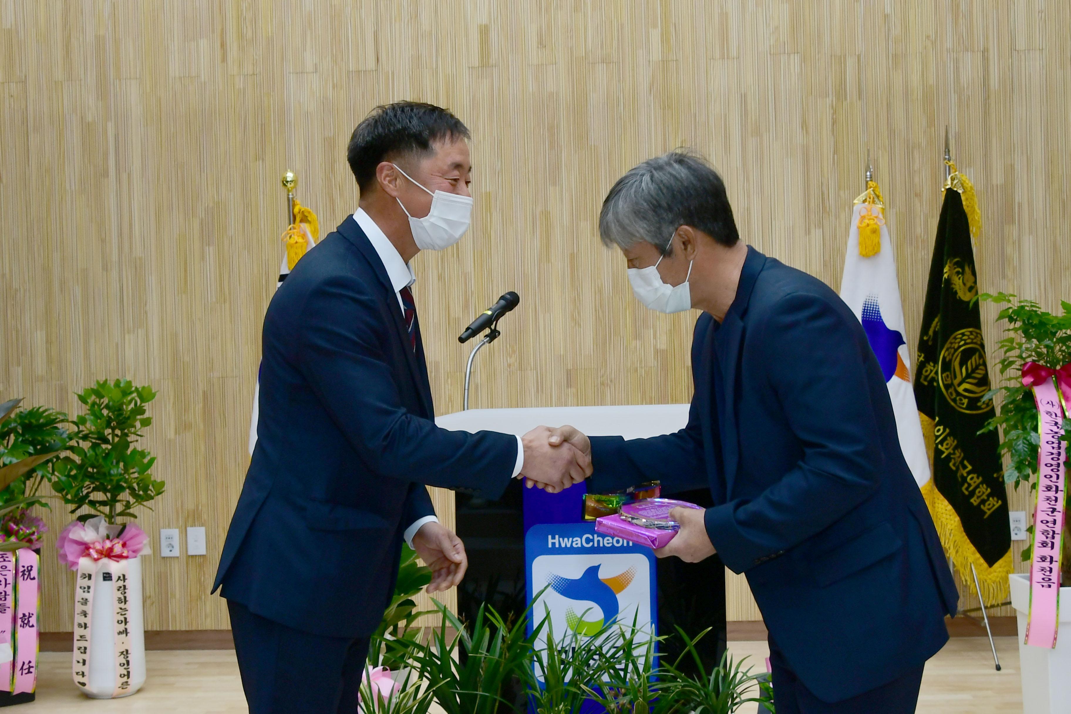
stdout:
<svg viewBox="0 0 1071 714">
<path fill-rule="evenodd" d="M 459 138 L 471 135 L 448 109 L 423 102 L 383 104 L 353 130 L 346 161 L 363 192 L 376 180 L 376 167 L 389 156 L 427 154 L 433 142 Z"/>
</svg>

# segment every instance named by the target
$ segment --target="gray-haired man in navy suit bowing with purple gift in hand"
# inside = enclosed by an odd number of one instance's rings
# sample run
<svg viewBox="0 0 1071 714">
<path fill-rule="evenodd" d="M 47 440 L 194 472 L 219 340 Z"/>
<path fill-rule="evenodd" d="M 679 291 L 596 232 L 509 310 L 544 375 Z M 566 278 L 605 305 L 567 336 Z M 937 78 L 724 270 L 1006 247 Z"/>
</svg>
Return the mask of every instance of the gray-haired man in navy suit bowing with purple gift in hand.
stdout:
<svg viewBox="0 0 1071 714">
<path fill-rule="evenodd" d="M 687 152 L 622 177 L 599 228 L 645 305 L 703 310 L 692 408 L 664 437 L 589 443 L 562 428 L 552 441 L 591 454 L 595 491 L 710 488 L 715 505 L 674 510 L 680 532 L 655 552 L 716 552 L 746 574 L 778 714 L 914 712 L 959 596 L 859 321 L 824 283 L 742 243 L 721 178 Z"/>
</svg>

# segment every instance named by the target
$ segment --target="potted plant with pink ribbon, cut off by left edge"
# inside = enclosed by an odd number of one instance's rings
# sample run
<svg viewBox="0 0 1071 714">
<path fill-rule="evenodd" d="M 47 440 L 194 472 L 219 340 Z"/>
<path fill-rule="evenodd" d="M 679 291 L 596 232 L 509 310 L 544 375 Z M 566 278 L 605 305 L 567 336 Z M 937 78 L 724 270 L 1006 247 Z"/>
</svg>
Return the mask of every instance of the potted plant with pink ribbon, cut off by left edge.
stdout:
<svg viewBox="0 0 1071 714">
<path fill-rule="evenodd" d="M 66 444 L 66 414 L 0 404 L 0 707 L 33 701 L 36 689 L 41 538 L 29 513 Z"/>
</svg>

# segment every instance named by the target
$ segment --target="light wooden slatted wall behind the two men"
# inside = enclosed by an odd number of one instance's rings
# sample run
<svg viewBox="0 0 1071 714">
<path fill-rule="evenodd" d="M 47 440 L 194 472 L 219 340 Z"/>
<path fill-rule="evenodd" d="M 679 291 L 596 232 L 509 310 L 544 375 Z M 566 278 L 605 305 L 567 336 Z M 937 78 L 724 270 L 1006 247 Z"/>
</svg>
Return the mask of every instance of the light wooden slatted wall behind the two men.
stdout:
<svg viewBox="0 0 1071 714">
<path fill-rule="evenodd" d="M 148 561 L 146 625 L 226 627 L 208 588 L 247 460 L 278 177 L 337 224 L 373 106 L 435 102 L 473 132 L 473 229 L 416 263 L 439 413 L 461 408 L 454 337 L 509 289 L 522 306 L 473 406 L 679 402 L 695 315 L 645 310 L 597 239 L 622 172 L 698 149 L 744 239 L 835 287 L 869 150 L 914 348 L 948 124 L 979 191 L 981 288 L 1055 307 L 1069 30 L 1052 0 L 0 0 L 0 395 L 75 411 L 97 377 L 160 390 L 168 490 L 144 525 L 203 525 L 210 555 Z M 71 578 L 45 563 L 44 626 L 70 629 Z M 728 590 L 730 617 L 755 619 L 745 583 Z"/>
</svg>

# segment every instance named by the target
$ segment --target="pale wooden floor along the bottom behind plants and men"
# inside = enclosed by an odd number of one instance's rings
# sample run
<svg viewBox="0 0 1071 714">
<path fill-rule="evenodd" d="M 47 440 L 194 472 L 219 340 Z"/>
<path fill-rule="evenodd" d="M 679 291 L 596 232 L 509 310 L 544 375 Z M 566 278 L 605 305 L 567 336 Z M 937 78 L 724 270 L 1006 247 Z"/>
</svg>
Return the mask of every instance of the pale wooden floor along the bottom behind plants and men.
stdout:
<svg viewBox="0 0 1071 714">
<path fill-rule="evenodd" d="M 750 655 L 765 669 L 766 642 L 730 642 L 734 656 Z M 952 639 L 927 665 L 921 714 L 1010 714 L 1022 711 L 1019 648 L 1014 637 L 997 638 L 1004 670 L 993 668 L 989 641 Z M 41 680 L 33 712 L 47 714 L 240 714 L 246 712 L 233 650 L 148 653 L 149 679 L 141 692 L 118 700 L 93 701 L 71 681 L 71 654 L 41 653 Z M 14 711 L 14 710 L 13 710 Z M 30 711 L 30 710 L 28 710 Z M 749 714 L 754 708 L 741 712 Z"/>
</svg>

